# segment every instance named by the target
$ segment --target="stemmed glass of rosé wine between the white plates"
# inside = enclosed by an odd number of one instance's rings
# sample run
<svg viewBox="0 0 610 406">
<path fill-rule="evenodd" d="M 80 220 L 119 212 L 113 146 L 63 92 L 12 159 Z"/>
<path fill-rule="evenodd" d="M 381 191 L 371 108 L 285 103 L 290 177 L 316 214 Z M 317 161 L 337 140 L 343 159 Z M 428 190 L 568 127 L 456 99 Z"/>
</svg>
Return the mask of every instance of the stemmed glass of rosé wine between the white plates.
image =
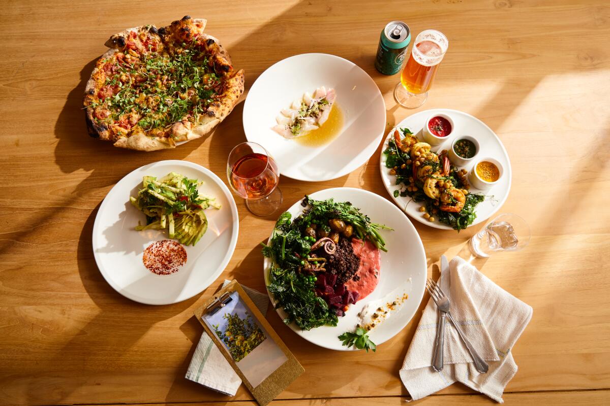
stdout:
<svg viewBox="0 0 610 406">
<path fill-rule="evenodd" d="M 229 153 L 227 178 L 255 215 L 271 215 L 282 204 L 278 164 L 256 142 L 242 142 Z"/>
</svg>

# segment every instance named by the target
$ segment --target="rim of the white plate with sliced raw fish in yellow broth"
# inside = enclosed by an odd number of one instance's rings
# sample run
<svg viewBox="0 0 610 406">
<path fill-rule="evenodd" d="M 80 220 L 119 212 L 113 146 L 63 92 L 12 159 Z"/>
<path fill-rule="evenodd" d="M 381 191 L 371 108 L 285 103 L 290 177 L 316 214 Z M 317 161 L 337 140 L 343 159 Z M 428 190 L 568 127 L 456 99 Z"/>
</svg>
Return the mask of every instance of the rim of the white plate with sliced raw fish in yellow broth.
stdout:
<svg viewBox="0 0 610 406">
<path fill-rule="evenodd" d="M 381 100 L 381 102 L 383 103 L 383 111 L 384 111 L 384 123 L 387 122 L 387 110 L 386 110 L 386 100 L 383 97 L 383 94 L 381 93 L 381 90 L 379 89 L 379 86 L 377 85 L 377 83 L 375 82 L 375 80 L 373 80 L 373 78 L 371 77 L 371 75 L 369 75 L 367 73 L 367 71 L 365 71 L 364 69 L 362 69 L 360 66 L 356 65 L 356 63 L 353 63 L 352 61 L 340 57 L 338 55 L 333 55 L 333 54 L 326 54 L 325 52 L 306 52 L 304 54 L 296 54 L 296 55 L 291 55 L 290 57 L 284 58 L 282 60 L 277 61 L 276 63 L 274 63 L 273 65 L 269 66 L 267 69 L 265 69 L 257 78 L 256 80 L 254 80 L 254 83 L 252 83 L 252 86 L 250 86 L 250 88 L 248 89 L 248 95 L 246 96 L 246 100 L 243 102 L 243 111 L 242 111 L 242 126 L 243 126 L 243 132 L 246 135 L 246 140 L 249 142 L 256 142 L 253 141 L 251 139 L 249 139 L 248 137 L 248 131 L 246 130 L 246 123 L 245 123 L 245 112 L 246 112 L 246 108 L 248 108 L 248 106 L 252 103 L 252 102 L 248 102 L 249 100 L 249 96 L 250 93 L 252 92 L 254 86 L 256 86 L 256 83 L 259 81 L 259 79 L 265 74 L 267 73 L 267 71 L 269 71 L 270 69 L 274 68 L 274 66 L 279 65 L 280 63 L 283 63 L 287 60 L 290 60 L 292 58 L 298 58 L 298 57 L 304 57 L 304 56 L 312 56 L 312 55 L 323 55 L 323 57 L 332 57 L 332 58 L 336 58 L 342 61 L 345 61 L 347 63 L 349 63 L 351 66 L 356 66 L 356 68 L 360 69 L 360 71 L 368 78 L 368 80 L 370 80 L 371 83 L 373 83 L 373 85 L 375 86 L 375 89 L 377 90 L 376 95 L 379 96 L 379 99 Z M 337 172 L 337 175 L 331 175 L 331 177 L 324 177 L 324 178 L 319 178 L 319 179 L 306 179 L 306 178 L 302 178 L 302 177 L 292 177 L 290 175 L 286 175 L 285 173 L 282 173 L 282 169 L 280 168 L 279 173 L 282 176 L 288 177 L 290 179 L 294 179 L 294 180 L 298 180 L 298 181 L 303 181 L 303 182 L 326 182 L 326 181 L 330 181 L 330 180 L 335 180 L 338 179 L 340 177 L 344 177 L 345 175 L 349 175 L 350 173 L 354 172 L 356 169 L 358 169 L 359 167 L 362 167 L 364 164 L 367 163 L 368 159 L 371 158 L 371 156 L 373 156 L 375 154 L 375 150 L 379 147 L 379 142 L 382 141 L 384 139 L 384 132 L 386 131 L 386 125 L 383 125 L 383 128 L 381 130 L 380 135 L 377 136 L 377 142 L 376 142 L 376 148 L 371 152 L 371 154 L 364 159 L 364 161 L 359 164 L 358 166 L 356 166 L 354 169 L 352 170 L 347 170 L 347 171 L 343 171 L 343 172 Z"/>
</svg>

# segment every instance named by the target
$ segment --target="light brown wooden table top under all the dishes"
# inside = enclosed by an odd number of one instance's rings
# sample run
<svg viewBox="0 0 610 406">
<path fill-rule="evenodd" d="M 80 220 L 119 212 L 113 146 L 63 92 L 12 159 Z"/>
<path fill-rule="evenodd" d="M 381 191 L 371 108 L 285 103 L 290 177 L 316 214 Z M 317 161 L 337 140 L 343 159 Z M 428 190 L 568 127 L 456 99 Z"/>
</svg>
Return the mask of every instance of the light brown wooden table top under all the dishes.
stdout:
<svg viewBox="0 0 610 406">
<path fill-rule="evenodd" d="M 209 137 L 174 150 L 138 153 L 87 136 L 84 84 L 110 34 L 185 14 L 207 18 L 246 89 L 268 66 L 304 52 L 347 58 L 373 77 L 390 127 L 413 111 L 392 97 L 398 77 L 373 68 L 382 27 L 406 21 L 450 38 L 423 108 L 456 108 L 495 130 L 511 156 L 512 190 L 502 212 L 529 222 L 517 253 L 475 261 L 493 281 L 534 307 L 513 349 L 519 372 L 512 404 L 610 403 L 610 12 L 595 1 L 432 0 L 222 2 L 4 2 L 0 61 L 0 403 L 250 405 L 184 379 L 201 335 L 195 309 L 224 278 L 264 290 L 257 244 L 272 220 L 237 198 L 240 234 L 223 275 L 173 306 L 123 298 L 93 261 L 99 203 L 126 173 L 161 159 L 185 159 L 224 178 L 229 150 L 245 140 L 243 103 Z M 244 95 L 245 96 L 245 95 Z M 423 109 L 422 108 L 422 109 Z M 420 110 L 422 110 L 420 109 Z M 417 110 L 416 110 L 417 111 Z M 362 187 L 384 197 L 379 149 L 365 166 L 325 183 L 282 178 L 288 208 L 306 192 Z M 415 223 L 429 273 L 441 254 L 462 251 L 481 226 L 462 233 Z M 427 296 L 426 296 L 427 297 Z M 398 369 L 419 313 L 376 354 L 318 348 L 267 318 L 306 373 L 274 404 L 403 404 Z M 307 399 L 307 400 L 303 400 Z M 426 405 L 489 404 L 453 385 Z"/>
</svg>

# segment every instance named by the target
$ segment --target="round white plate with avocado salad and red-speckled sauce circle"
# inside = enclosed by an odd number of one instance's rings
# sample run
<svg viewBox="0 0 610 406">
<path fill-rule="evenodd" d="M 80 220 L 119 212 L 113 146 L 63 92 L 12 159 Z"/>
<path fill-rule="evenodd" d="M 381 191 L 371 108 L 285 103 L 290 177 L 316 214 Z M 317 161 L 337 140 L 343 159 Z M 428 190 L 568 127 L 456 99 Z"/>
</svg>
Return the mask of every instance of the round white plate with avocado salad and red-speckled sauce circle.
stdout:
<svg viewBox="0 0 610 406">
<path fill-rule="evenodd" d="M 209 208 L 209 226 L 195 247 L 183 246 L 187 263 L 171 275 L 156 275 L 146 269 L 142 254 L 152 242 L 167 239 L 167 231 L 135 231 L 145 215 L 129 203 L 142 187 L 142 177 L 163 177 L 178 172 L 204 181 L 199 194 L 215 197 L 220 210 Z M 206 289 L 231 259 L 239 217 L 235 200 L 209 169 L 187 161 L 159 161 L 142 166 L 121 179 L 104 198 L 93 225 L 93 254 L 106 281 L 121 295 L 145 304 L 170 304 L 191 298 Z"/>
</svg>

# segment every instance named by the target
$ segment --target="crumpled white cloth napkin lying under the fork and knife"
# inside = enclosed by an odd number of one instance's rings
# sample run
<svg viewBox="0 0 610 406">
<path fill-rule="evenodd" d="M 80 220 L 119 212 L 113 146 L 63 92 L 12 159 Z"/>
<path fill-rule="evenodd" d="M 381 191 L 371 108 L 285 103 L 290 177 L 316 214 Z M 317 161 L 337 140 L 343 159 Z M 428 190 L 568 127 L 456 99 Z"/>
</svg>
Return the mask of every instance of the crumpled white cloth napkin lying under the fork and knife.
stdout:
<svg viewBox="0 0 610 406">
<path fill-rule="evenodd" d="M 449 319 L 445 323 L 445 368 L 432 369 L 432 352 L 439 318 L 430 299 L 423 310 L 415 337 L 404 358 L 400 378 L 412 399 L 417 400 L 462 382 L 469 388 L 503 403 L 504 388 L 517 373 L 511 348 L 532 317 L 532 308 L 501 289 L 461 257 L 450 264 L 451 315 L 489 371 L 476 371 L 472 357 Z"/>
</svg>

